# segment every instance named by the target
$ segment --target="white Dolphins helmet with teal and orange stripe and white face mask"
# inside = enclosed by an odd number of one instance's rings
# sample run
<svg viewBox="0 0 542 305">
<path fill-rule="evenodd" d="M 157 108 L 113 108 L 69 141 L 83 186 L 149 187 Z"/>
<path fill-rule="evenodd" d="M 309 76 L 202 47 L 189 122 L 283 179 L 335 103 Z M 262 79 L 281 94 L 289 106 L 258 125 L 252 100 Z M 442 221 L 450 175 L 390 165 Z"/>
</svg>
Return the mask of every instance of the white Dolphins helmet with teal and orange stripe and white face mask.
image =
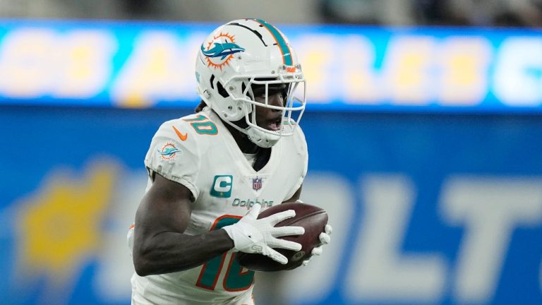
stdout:
<svg viewBox="0 0 542 305">
<path fill-rule="evenodd" d="M 214 30 L 198 52 L 195 78 L 207 106 L 263 148 L 275 145 L 281 136 L 291 136 L 305 111 L 301 64 L 282 32 L 264 20 L 233 20 Z M 287 85 L 284 105 L 269 104 L 270 85 L 282 83 Z M 255 101 L 252 85 L 265 87 L 265 102 Z M 256 106 L 282 111 L 280 128 L 258 126 Z M 233 123 L 243 117 L 248 127 Z"/>
</svg>

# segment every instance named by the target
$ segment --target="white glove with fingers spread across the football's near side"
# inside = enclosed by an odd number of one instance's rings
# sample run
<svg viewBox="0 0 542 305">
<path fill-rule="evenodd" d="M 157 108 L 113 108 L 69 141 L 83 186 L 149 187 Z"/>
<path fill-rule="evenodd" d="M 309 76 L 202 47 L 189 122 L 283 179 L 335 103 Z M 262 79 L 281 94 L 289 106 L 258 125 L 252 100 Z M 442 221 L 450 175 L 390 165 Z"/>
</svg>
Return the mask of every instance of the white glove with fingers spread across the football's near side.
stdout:
<svg viewBox="0 0 542 305">
<path fill-rule="evenodd" d="M 305 233 L 305 229 L 303 227 L 275 227 L 282 220 L 294 217 L 296 215 L 294 210 L 286 210 L 262 219 L 256 219 L 261 208 L 260 204 L 253 205 L 239 222 L 222 229 L 226 230 L 234 241 L 233 251 L 260 253 L 279 263 L 286 264 L 288 259 L 272 248 L 299 251 L 301 244 L 277 239 L 277 237 L 301 235 Z"/>
</svg>

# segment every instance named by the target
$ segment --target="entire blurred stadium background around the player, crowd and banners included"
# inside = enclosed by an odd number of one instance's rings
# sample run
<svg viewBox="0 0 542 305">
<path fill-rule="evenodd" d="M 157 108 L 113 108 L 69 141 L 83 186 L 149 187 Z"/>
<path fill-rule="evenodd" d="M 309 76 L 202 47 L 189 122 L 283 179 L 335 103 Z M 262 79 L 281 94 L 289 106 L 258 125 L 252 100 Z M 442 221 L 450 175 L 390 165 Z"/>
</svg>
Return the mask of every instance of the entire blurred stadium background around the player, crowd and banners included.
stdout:
<svg viewBox="0 0 542 305">
<path fill-rule="evenodd" d="M 126 229 L 217 25 L 301 56 L 333 241 L 258 305 L 542 304 L 542 1 L 0 0 L 0 304 L 129 304 Z"/>
</svg>

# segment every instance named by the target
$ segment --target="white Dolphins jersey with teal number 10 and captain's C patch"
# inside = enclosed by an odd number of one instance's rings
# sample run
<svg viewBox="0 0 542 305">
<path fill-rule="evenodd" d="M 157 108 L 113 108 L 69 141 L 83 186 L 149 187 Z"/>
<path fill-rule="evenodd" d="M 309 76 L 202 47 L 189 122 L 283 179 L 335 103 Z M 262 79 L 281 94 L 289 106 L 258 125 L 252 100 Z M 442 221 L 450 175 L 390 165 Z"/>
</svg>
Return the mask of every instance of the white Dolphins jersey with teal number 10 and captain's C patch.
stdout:
<svg viewBox="0 0 542 305">
<path fill-rule="evenodd" d="M 307 172 L 307 145 L 299 126 L 272 147 L 256 172 L 210 109 L 167 121 L 152 138 L 146 167 L 186 186 L 195 201 L 186 234 L 231 225 L 255 203 L 262 210 L 291 198 Z M 196 268 L 132 277 L 133 304 L 253 304 L 254 273 L 229 251 Z"/>
</svg>

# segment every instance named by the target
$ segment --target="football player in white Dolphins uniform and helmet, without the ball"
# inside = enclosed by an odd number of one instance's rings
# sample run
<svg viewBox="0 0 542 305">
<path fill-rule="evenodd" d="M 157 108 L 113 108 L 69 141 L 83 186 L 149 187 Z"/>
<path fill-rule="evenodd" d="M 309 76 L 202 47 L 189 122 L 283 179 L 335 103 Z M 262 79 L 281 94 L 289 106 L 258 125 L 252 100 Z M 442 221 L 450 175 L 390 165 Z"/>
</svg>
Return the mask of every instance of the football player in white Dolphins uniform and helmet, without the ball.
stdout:
<svg viewBox="0 0 542 305">
<path fill-rule="evenodd" d="M 293 210 L 256 219 L 297 201 L 307 172 L 305 78 L 286 37 L 264 20 L 222 25 L 201 45 L 195 78 L 202 103 L 162 124 L 145 157 L 149 183 L 128 232 L 132 304 L 253 304 L 254 273 L 234 253 L 287 263 L 275 249 L 301 249 L 278 237 L 303 227 L 275 227 Z"/>
</svg>

